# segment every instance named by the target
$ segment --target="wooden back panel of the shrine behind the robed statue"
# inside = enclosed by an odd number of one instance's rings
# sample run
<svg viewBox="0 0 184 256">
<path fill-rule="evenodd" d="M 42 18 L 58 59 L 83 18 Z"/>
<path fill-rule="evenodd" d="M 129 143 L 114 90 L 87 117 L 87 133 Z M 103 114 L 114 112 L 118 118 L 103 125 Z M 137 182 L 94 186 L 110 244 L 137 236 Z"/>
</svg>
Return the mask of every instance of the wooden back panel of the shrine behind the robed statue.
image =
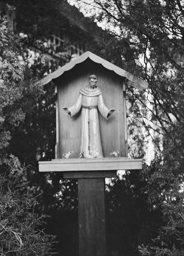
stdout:
<svg viewBox="0 0 184 256">
<path fill-rule="evenodd" d="M 63 110 L 75 104 L 79 91 L 89 83 L 89 76 L 98 76 L 97 86 L 101 89 L 105 105 L 114 113 L 108 120 L 99 113 L 100 135 L 102 141 L 103 156 L 108 157 L 110 152 L 119 150 L 121 156 L 125 156 L 126 133 L 126 109 L 125 92 L 123 91 L 124 77 L 95 63 L 90 59 L 77 64 L 69 71 L 65 71 L 55 79 L 57 84 L 57 130 L 58 148 L 57 158 L 61 158 L 64 152 L 80 152 L 81 144 L 81 110 L 72 118 Z M 93 122 L 97 116 L 90 117 Z M 102 154 L 99 152 L 98 154 Z"/>
</svg>

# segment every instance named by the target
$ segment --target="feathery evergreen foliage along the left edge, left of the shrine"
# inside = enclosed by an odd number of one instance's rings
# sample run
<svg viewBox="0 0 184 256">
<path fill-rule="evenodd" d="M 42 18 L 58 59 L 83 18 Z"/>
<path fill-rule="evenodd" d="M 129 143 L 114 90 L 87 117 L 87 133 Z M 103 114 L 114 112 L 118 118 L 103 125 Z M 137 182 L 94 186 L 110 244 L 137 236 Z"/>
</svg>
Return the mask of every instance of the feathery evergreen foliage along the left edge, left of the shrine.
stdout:
<svg viewBox="0 0 184 256">
<path fill-rule="evenodd" d="M 11 10 L 7 6 L 7 10 Z M 2 11 L 2 10 L 0 10 Z M 1 13 L 2 14 L 2 13 Z M 44 233 L 46 216 L 38 216 L 36 198 L 27 189 L 25 166 L 8 154 L 13 128 L 25 120 L 32 98 L 43 94 L 20 51 L 21 40 L 11 31 L 7 17 L 0 19 L 0 254 L 50 256 L 53 236 Z M 27 102 L 29 99 L 29 103 Z"/>
</svg>

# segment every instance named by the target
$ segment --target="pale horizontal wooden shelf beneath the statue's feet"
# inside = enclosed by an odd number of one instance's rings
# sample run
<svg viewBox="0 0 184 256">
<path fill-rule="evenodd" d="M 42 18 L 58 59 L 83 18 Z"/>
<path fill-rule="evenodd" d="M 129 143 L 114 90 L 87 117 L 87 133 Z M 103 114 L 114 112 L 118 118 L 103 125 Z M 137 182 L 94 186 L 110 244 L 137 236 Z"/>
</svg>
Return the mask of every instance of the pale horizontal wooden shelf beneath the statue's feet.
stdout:
<svg viewBox="0 0 184 256">
<path fill-rule="evenodd" d="M 40 172 L 142 169 L 142 159 L 64 159 L 38 163 Z"/>
</svg>

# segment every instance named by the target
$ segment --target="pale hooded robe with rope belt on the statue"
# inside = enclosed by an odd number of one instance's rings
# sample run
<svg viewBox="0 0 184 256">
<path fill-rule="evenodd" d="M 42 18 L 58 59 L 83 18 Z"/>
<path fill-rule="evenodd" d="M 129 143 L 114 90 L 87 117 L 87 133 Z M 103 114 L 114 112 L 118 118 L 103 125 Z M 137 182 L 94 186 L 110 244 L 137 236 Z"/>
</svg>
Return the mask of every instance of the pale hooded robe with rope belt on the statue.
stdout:
<svg viewBox="0 0 184 256">
<path fill-rule="evenodd" d="M 102 143 L 100 136 L 98 110 L 101 115 L 108 119 L 109 110 L 103 101 L 100 88 L 89 89 L 86 86 L 79 92 L 76 103 L 68 108 L 71 117 L 76 115 L 82 108 L 81 113 L 81 148 L 84 157 L 102 157 Z"/>
</svg>

